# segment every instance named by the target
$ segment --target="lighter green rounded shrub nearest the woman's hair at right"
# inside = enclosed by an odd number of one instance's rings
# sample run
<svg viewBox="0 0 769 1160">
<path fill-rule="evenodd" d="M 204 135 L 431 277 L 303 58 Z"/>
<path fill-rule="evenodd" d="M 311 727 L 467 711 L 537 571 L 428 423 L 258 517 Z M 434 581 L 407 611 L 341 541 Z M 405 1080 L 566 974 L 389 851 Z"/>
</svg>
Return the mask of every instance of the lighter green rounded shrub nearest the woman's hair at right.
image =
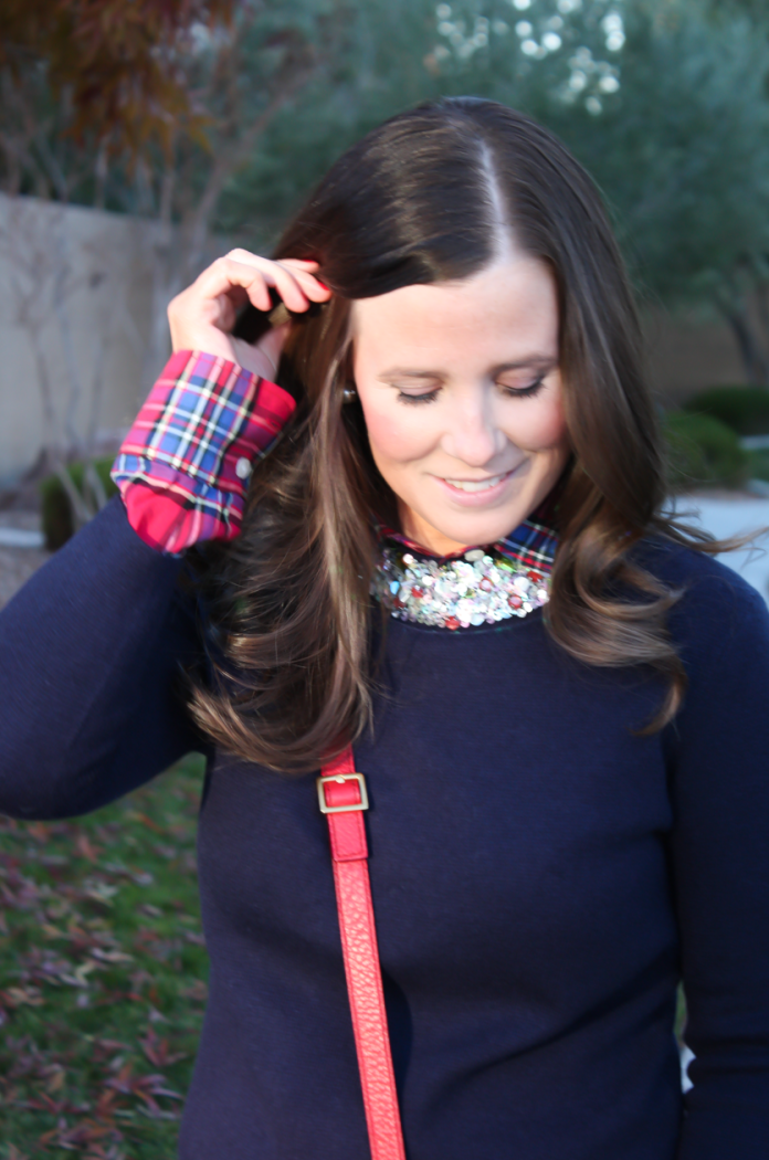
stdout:
<svg viewBox="0 0 769 1160">
<path fill-rule="evenodd" d="M 670 411 L 665 416 L 670 486 L 740 487 L 749 473 L 750 457 L 731 427 L 710 415 Z"/>
</svg>

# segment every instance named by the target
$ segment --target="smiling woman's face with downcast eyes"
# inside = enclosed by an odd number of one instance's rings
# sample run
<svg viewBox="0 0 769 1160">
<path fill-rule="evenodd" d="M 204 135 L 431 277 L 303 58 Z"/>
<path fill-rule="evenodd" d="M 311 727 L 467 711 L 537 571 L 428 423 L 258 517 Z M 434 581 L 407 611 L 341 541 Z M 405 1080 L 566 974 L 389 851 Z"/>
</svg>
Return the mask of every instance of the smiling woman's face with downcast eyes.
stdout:
<svg viewBox="0 0 769 1160">
<path fill-rule="evenodd" d="M 404 534 L 441 554 L 503 538 L 568 457 L 549 268 L 508 252 L 460 282 L 354 303 L 354 375 Z"/>
</svg>

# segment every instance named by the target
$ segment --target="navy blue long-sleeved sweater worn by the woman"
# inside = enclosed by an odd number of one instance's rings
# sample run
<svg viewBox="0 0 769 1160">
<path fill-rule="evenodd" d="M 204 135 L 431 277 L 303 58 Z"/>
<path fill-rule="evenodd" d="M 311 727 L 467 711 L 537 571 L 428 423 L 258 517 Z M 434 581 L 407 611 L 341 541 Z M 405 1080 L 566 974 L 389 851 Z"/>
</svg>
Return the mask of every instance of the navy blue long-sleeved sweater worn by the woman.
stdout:
<svg viewBox="0 0 769 1160">
<path fill-rule="evenodd" d="M 769 618 L 719 564 L 687 585 L 674 725 L 640 670 L 590 669 L 541 615 L 393 622 L 356 746 L 409 1160 L 769 1157 Z M 201 748 L 177 560 L 119 502 L 0 615 L 0 809 L 96 809 Z M 312 777 L 211 753 L 199 818 L 210 1002 L 182 1160 L 368 1155 Z M 683 977 L 696 1053 L 682 1100 Z"/>
</svg>

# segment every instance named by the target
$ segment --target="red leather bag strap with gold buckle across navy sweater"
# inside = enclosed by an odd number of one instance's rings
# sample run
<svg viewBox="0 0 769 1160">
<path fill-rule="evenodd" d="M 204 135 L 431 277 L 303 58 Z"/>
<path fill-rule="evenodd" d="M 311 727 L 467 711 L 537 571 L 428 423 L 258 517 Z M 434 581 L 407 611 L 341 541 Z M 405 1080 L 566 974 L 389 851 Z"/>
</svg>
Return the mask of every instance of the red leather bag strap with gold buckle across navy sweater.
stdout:
<svg viewBox="0 0 769 1160">
<path fill-rule="evenodd" d="M 328 818 L 339 929 L 372 1160 L 406 1160 L 392 1070 L 363 811 L 369 800 L 353 751 L 324 766 L 318 799 Z"/>
</svg>

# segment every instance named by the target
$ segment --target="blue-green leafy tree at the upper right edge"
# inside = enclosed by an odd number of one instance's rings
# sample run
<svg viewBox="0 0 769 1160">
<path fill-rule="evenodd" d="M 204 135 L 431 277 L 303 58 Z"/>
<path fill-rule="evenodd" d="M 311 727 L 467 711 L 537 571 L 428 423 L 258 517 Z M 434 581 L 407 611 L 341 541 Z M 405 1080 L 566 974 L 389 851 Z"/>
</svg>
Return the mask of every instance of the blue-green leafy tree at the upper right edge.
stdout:
<svg viewBox="0 0 769 1160">
<path fill-rule="evenodd" d="M 632 27 L 602 133 L 573 126 L 607 191 L 641 285 L 673 306 L 709 303 L 746 377 L 769 384 L 769 42 L 745 20 L 687 6 Z"/>
</svg>

